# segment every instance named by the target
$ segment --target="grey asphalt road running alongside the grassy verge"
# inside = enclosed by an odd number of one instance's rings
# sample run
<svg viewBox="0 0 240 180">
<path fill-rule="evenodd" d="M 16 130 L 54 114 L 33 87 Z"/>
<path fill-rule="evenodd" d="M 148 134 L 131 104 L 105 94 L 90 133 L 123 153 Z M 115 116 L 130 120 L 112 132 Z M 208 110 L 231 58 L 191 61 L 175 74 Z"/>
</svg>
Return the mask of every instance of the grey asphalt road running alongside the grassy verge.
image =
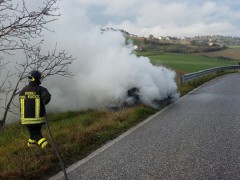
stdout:
<svg viewBox="0 0 240 180">
<path fill-rule="evenodd" d="M 69 179 L 240 179 L 239 110 L 240 74 L 212 80 L 69 167 Z"/>
</svg>

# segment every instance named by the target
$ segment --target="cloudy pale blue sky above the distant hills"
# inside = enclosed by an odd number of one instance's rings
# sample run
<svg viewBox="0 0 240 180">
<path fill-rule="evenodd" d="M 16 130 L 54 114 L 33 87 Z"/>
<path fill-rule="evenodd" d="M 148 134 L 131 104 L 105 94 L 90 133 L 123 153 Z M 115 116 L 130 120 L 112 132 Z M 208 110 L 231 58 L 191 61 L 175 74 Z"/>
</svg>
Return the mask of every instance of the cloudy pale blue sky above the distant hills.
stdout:
<svg viewBox="0 0 240 180">
<path fill-rule="evenodd" d="M 62 8 L 73 20 L 139 36 L 240 36 L 238 0 L 71 0 Z"/>
</svg>

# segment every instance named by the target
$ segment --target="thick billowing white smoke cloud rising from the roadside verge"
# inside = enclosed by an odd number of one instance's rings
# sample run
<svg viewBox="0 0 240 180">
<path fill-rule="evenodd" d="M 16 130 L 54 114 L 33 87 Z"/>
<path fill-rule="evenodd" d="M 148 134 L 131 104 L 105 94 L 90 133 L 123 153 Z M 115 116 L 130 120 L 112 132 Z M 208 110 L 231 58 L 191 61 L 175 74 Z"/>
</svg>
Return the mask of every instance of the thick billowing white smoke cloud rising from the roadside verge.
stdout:
<svg viewBox="0 0 240 180">
<path fill-rule="evenodd" d="M 77 110 L 119 106 L 129 101 L 127 91 L 139 89 L 140 101 L 154 106 L 154 100 L 177 97 L 175 72 L 156 67 L 147 57 L 137 57 L 133 46 L 116 31 L 100 31 L 77 6 L 62 10 L 46 40 L 76 58 L 70 66 L 72 78 L 49 77 L 45 85 L 52 94 L 51 110 Z M 73 18 L 75 17 L 75 18 Z M 130 99 L 131 101 L 131 99 Z"/>
</svg>

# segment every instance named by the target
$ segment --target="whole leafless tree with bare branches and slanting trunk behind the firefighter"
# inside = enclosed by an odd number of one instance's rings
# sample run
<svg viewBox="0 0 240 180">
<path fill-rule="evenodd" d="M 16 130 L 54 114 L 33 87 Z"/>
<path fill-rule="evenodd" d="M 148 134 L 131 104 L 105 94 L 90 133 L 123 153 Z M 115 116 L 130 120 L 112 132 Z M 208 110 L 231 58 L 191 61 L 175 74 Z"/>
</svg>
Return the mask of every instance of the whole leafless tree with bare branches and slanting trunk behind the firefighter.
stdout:
<svg viewBox="0 0 240 180">
<path fill-rule="evenodd" d="M 60 16 L 56 13 L 57 1 L 45 0 L 37 10 L 31 10 L 24 0 L 0 0 L 0 109 L 3 110 L 0 131 L 8 113 L 12 112 L 19 85 L 32 69 L 39 69 L 46 76 L 71 75 L 68 70 L 74 60 L 71 55 L 64 50 L 57 51 L 57 46 L 46 54 L 41 51 L 43 31 L 49 30 L 47 24 Z M 33 43 L 33 39 L 38 41 Z M 22 51 L 25 59 L 6 70 L 10 62 L 5 57 L 16 51 Z"/>
</svg>

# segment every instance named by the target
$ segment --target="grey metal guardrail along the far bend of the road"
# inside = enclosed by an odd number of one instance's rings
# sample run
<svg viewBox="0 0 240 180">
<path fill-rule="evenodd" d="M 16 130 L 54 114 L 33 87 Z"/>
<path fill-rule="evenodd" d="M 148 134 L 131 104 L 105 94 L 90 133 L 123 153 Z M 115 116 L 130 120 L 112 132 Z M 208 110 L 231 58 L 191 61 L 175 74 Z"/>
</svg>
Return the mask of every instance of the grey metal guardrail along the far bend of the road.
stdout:
<svg viewBox="0 0 240 180">
<path fill-rule="evenodd" d="M 225 70 L 236 70 L 236 69 L 240 69 L 240 66 L 221 66 L 221 67 L 210 68 L 210 69 L 206 69 L 206 70 L 202 70 L 194 73 L 184 74 L 180 77 L 180 83 L 181 83 L 181 86 L 183 86 L 185 82 L 189 82 L 193 79 L 202 77 L 210 73 L 225 71 Z"/>
</svg>

